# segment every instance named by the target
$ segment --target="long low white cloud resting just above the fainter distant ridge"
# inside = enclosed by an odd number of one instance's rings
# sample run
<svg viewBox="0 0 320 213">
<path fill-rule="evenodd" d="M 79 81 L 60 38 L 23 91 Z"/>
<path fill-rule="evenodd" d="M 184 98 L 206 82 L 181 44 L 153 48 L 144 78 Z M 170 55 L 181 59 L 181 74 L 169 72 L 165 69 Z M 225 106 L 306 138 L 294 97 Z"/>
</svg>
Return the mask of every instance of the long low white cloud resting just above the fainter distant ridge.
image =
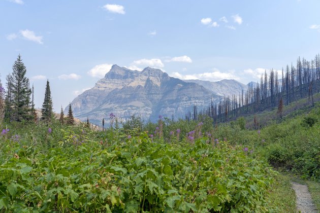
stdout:
<svg viewBox="0 0 320 213">
<path fill-rule="evenodd" d="M 234 74 L 234 70 L 230 70 L 228 73 L 220 72 L 218 69 L 214 68 L 213 72 L 200 73 L 200 74 L 191 74 L 191 75 L 182 75 L 180 73 L 172 73 L 170 76 L 179 78 L 182 80 L 190 80 L 190 79 L 200 79 L 204 81 L 221 81 L 223 79 L 234 79 L 239 80 L 237 76 Z"/>
</svg>

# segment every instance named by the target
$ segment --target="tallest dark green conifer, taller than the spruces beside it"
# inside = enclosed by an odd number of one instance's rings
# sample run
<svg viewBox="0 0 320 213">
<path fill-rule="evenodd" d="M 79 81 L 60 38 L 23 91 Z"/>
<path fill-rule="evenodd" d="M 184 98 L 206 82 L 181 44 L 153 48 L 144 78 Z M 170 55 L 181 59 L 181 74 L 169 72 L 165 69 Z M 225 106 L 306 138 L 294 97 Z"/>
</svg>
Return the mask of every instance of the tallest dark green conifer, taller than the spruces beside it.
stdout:
<svg viewBox="0 0 320 213">
<path fill-rule="evenodd" d="M 26 67 L 24 66 L 20 54 L 12 66 L 10 77 L 10 89 L 12 94 L 12 120 L 30 120 L 30 95 L 29 79 L 25 77 Z"/>
</svg>

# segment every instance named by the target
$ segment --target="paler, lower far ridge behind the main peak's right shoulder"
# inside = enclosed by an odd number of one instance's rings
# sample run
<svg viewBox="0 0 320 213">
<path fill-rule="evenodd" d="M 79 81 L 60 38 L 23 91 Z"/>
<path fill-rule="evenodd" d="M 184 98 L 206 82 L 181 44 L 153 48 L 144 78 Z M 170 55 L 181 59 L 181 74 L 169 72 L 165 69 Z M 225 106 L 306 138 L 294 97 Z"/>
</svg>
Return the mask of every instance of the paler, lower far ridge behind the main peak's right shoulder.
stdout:
<svg viewBox="0 0 320 213">
<path fill-rule="evenodd" d="M 248 86 L 236 80 L 221 80 L 218 82 L 202 81 L 202 80 L 183 80 L 185 82 L 193 82 L 213 91 L 219 96 L 239 95 L 241 90 L 246 91 Z"/>
</svg>

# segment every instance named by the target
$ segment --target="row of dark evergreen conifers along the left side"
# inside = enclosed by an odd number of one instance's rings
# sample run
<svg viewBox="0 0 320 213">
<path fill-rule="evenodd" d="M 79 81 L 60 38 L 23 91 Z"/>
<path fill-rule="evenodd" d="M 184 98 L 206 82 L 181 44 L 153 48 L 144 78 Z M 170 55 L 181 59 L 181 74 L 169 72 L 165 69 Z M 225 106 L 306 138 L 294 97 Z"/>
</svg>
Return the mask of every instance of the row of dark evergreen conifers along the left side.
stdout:
<svg viewBox="0 0 320 213">
<path fill-rule="evenodd" d="M 19 54 L 12 66 L 12 73 L 6 76 L 6 88 L 0 80 L 0 126 L 6 122 L 37 122 L 38 115 L 35 109 L 34 86 L 30 87 L 26 77 L 26 67 Z M 53 103 L 49 80 L 45 88 L 45 97 L 41 108 L 40 120 L 51 122 L 54 117 Z M 65 118 L 61 106 L 60 122 L 73 125 L 74 117 L 69 104 L 69 112 Z"/>
</svg>

